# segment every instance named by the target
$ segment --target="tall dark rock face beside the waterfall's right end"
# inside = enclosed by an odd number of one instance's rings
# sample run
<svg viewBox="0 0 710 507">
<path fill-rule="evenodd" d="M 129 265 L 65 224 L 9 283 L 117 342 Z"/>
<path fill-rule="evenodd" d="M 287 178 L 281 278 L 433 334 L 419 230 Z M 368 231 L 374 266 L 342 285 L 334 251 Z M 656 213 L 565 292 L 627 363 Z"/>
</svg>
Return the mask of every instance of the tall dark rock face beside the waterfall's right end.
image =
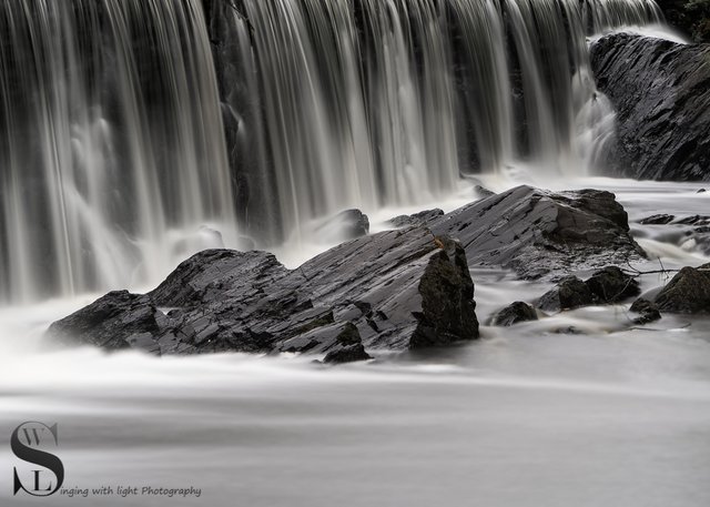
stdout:
<svg viewBox="0 0 710 507">
<path fill-rule="evenodd" d="M 710 45 L 613 34 L 592 44 L 591 65 L 617 112 L 616 174 L 710 181 Z"/>
</svg>

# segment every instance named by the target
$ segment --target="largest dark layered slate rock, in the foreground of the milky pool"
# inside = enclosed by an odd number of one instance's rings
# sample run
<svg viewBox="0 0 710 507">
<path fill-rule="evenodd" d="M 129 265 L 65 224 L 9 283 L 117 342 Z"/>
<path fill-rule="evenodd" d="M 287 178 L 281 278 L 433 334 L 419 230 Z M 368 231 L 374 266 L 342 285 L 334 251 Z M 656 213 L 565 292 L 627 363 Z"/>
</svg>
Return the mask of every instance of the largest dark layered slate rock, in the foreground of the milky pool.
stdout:
<svg viewBox="0 0 710 507">
<path fill-rule="evenodd" d="M 424 227 L 342 244 L 290 271 L 266 252 L 211 250 L 149 294 L 110 293 L 63 318 L 64 343 L 156 354 L 325 354 L 404 349 L 478 337 L 474 283 L 459 243 Z"/>
</svg>

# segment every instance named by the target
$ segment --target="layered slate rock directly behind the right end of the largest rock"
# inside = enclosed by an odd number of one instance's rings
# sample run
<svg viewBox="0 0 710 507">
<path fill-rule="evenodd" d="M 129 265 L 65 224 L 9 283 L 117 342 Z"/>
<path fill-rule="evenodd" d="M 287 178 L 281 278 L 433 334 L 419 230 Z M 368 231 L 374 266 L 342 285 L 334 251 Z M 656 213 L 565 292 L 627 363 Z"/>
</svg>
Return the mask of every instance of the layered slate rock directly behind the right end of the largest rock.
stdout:
<svg viewBox="0 0 710 507">
<path fill-rule="evenodd" d="M 458 237 L 470 266 L 503 266 L 523 278 L 562 277 L 623 265 L 646 254 L 610 192 L 554 193 L 518 186 L 456 210 L 430 224 Z"/>
</svg>

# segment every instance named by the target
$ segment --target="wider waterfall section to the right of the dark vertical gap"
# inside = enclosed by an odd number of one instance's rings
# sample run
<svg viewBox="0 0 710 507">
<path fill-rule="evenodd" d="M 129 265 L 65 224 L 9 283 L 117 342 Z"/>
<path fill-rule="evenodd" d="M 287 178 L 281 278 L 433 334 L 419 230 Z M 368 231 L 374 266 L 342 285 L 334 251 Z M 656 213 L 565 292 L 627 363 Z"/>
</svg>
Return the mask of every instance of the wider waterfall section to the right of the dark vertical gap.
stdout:
<svg viewBox="0 0 710 507">
<path fill-rule="evenodd" d="M 213 11 L 243 139 L 232 164 L 253 203 L 244 225 L 271 241 L 348 206 L 432 202 L 462 174 L 520 161 L 539 175 L 586 172 L 613 126 L 587 34 L 660 20 L 647 0 L 242 0 Z"/>
</svg>

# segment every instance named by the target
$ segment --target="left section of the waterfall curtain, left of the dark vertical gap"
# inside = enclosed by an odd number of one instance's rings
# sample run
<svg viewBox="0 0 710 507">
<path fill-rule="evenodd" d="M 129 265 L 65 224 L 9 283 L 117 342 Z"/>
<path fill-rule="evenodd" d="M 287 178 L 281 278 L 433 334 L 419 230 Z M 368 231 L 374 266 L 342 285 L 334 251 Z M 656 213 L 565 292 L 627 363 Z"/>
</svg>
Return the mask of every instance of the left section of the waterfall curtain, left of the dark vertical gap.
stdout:
<svg viewBox="0 0 710 507">
<path fill-rule="evenodd" d="M 0 37 L 0 300 L 134 284 L 174 231 L 234 235 L 199 0 L 8 0 Z"/>
</svg>

